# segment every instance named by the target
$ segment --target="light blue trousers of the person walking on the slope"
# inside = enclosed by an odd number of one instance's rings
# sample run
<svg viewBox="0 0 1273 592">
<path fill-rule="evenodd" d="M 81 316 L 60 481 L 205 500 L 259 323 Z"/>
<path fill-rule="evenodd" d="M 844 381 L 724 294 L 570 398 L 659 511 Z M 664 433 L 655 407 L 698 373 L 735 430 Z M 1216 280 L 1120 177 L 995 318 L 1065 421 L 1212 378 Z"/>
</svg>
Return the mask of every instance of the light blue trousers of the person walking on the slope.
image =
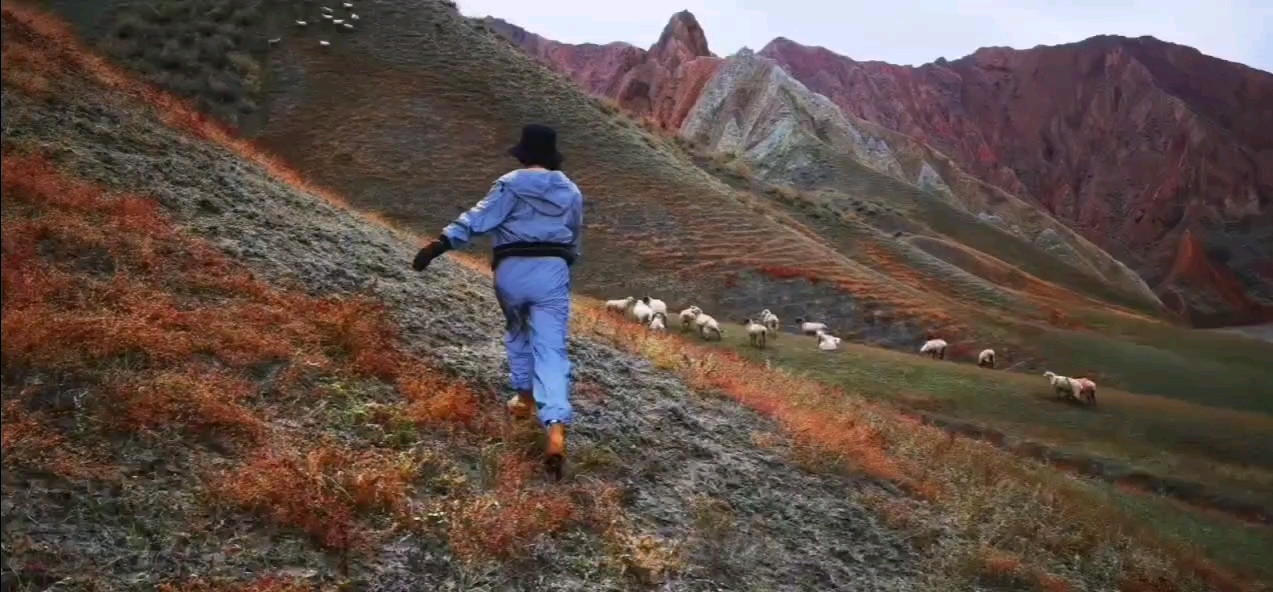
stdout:
<svg viewBox="0 0 1273 592">
<path fill-rule="evenodd" d="M 513 388 L 535 395 L 540 423 L 570 423 L 570 269 L 560 257 L 509 257 L 495 270 Z"/>
</svg>

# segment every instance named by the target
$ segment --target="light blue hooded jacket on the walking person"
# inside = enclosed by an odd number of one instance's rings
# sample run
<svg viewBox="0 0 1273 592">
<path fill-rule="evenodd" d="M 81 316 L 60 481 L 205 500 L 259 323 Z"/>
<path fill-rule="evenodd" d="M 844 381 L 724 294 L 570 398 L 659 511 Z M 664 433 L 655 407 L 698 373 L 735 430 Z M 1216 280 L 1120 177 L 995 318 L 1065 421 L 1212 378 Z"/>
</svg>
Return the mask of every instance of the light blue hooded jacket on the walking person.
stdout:
<svg viewBox="0 0 1273 592">
<path fill-rule="evenodd" d="M 491 186 L 481 201 L 442 230 L 452 248 L 494 233 L 495 247 L 514 242 L 569 244 L 579 256 L 583 194 L 560 171 L 517 169 Z"/>
</svg>

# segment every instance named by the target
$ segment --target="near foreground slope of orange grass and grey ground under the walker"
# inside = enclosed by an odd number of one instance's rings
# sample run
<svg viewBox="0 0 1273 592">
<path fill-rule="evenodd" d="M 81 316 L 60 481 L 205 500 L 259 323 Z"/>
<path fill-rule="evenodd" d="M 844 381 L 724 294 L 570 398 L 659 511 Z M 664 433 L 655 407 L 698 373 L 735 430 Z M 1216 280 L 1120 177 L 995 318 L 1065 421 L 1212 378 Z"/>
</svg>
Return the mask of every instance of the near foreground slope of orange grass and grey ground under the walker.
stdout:
<svg viewBox="0 0 1273 592">
<path fill-rule="evenodd" d="M 586 298 L 570 474 L 546 486 L 537 430 L 500 409 L 481 261 L 409 272 L 415 237 L 47 17 L 5 3 L 3 42 L 4 579 L 18 589 L 1269 579 L 1264 531 L 647 336 Z"/>
</svg>

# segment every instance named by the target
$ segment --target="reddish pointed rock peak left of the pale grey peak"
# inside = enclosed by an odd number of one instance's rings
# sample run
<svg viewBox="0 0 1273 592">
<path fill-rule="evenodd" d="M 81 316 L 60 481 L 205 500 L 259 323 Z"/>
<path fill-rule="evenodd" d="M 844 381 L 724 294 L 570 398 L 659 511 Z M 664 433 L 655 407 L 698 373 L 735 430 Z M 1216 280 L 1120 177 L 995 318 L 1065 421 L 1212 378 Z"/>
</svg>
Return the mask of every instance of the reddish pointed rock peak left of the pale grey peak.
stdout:
<svg viewBox="0 0 1273 592">
<path fill-rule="evenodd" d="M 672 15 L 649 50 L 628 43 L 569 45 L 488 17 L 491 29 L 592 94 L 614 99 L 626 112 L 677 129 L 721 60 L 689 11 Z"/>
</svg>

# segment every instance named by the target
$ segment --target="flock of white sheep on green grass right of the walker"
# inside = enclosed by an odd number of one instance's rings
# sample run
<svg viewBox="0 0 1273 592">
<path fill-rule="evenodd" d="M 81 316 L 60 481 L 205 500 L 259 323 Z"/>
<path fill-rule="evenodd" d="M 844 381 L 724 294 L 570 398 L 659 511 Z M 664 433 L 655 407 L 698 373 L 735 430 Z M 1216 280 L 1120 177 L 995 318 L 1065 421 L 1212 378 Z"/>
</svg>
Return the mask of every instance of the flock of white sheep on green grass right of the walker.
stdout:
<svg viewBox="0 0 1273 592">
<path fill-rule="evenodd" d="M 657 298 L 628 297 L 617 300 L 606 300 L 606 311 L 624 314 L 633 321 L 644 325 L 651 331 L 667 331 L 667 303 Z M 691 306 L 680 312 L 681 332 L 694 330 L 699 337 L 709 341 L 719 341 L 724 336 L 724 330 L 715 317 L 703 312 L 701 308 Z M 782 323 L 778 316 L 770 309 L 760 311 L 756 318 L 742 321 L 747 332 L 747 341 L 754 348 L 765 348 L 770 339 L 777 339 Z M 826 323 L 796 318 L 796 326 L 802 335 L 817 337 L 817 349 L 834 351 L 840 346 L 840 337 L 831 335 Z M 947 342 L 943 339 L 931 339 L 919 348 L 920 354 L 928 354 L 933 359 L 946 359 Z M 976 355 L 976 365 L 994 368 L 994 350 L 984 349 Z M 1051 383 L 1053 391 L 1062 398 L 1096 405 L 1096 383 L 1088 378 L 1071 378 L 1054 372 L 1044 372 L 1044 378 Z"/>
</svg>

